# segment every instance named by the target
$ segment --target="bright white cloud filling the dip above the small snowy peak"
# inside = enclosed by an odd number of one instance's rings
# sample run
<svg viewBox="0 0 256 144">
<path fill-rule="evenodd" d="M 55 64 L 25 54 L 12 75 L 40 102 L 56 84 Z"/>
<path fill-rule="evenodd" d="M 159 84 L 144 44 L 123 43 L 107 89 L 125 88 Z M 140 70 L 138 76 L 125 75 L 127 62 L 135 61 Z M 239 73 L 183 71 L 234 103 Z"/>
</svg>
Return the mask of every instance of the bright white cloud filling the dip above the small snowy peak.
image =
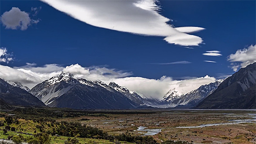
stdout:
<svg viewBox="0 0 256 144">
<path fill-rule="evenodd" d="M 151 97 L 161 100 L 170 90 L 175 88 L 182 94 L 186 94 L 201 85 L 214 82 L 216 79 L 208 75 L 201 78 L 172 80 L 170 77 L 163 76 L 161 79 L 146 79 L 141 77 L 127 77 L 113 79 L 111 81 L 118 83 L 120 86 L 127 87 L 129 90 L 142 94 L 145 97 Z M 109 81 L 105 81 L 106 83 Z"/>
</svg>

